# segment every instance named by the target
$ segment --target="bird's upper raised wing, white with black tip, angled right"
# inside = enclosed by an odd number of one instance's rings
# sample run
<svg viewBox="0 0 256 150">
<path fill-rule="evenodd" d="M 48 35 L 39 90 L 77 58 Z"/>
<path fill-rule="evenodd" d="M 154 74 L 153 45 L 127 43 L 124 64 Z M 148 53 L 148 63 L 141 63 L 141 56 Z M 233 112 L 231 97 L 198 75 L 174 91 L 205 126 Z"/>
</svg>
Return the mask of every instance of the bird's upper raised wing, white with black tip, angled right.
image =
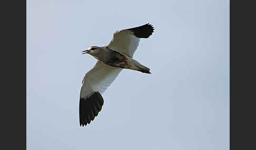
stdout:
<svg viewBox="0 0 256 150">
<path fill-rule="evenodd" d="M 106 46 L 132 58 L 139 45 L 140 38 L 148 38 L 153 31 L 154 28 L 150 24 L 116 31 L 111 42 Z"/>
</svg>

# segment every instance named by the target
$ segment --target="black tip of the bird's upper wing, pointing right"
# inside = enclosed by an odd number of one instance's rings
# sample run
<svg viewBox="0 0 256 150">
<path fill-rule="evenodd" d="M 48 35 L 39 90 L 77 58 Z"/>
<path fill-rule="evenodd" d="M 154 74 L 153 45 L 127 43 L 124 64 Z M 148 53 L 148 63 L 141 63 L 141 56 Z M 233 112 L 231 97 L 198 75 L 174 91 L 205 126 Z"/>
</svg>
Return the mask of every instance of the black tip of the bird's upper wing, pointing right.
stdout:
<svg viewBox="0 0 256 150">
<path fill-rule="evenodd" d="M 127 30 L 133 31 L 134 36 L 136 36 L 137 38 L 148 38 L 154 32 L 154 28 L 150 23 Z"/>
</svg>

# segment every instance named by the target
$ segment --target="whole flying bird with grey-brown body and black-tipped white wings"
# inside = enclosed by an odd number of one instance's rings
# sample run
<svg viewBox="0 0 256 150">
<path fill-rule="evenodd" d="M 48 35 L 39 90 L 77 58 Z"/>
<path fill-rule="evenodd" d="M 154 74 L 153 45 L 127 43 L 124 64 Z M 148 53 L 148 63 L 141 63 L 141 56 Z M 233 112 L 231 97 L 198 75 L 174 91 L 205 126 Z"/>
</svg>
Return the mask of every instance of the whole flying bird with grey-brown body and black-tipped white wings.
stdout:
<svg viewBox="0 0 256 150">
<path fill-rule="evenodd" d="M 103 47 L 91 46 L 88 53 L 98 61 L 83 78 L 79 102 L 80 126 L 90 124 L 102 109 L 101 94 L 110 86 L 122 69 L 150 73 L 150 69 L 132 59 L 140 38 L 148 38 L 154 28 L 150 24 L 115 31 L 111 42 Z"/>
</svg>

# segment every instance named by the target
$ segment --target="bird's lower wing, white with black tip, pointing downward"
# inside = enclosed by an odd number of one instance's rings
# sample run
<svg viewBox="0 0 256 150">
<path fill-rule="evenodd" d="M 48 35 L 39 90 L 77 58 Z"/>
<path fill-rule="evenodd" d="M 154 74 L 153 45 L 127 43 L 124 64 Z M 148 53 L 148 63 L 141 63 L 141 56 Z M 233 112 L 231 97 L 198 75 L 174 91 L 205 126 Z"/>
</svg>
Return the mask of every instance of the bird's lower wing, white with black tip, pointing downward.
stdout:
<svg viewBox="0 0 256 150">
<path fill-rule="evenodd" d="M 98 60 L 94 67 L 84 75 L 79 103 L 80 126 L 90 124 L 101 111 L 103 105 L 101 94 L 121 70 L 122 68 L 107 66 Z"/>
</svg>

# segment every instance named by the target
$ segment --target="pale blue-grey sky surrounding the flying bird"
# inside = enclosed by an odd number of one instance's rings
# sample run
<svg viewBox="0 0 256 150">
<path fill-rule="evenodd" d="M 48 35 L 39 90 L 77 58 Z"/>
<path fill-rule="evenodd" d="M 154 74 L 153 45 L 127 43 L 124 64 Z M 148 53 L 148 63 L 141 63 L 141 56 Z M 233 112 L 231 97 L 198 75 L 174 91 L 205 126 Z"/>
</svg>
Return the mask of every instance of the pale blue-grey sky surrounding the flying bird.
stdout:
<svg viewBox="0 0 256 150">
<path fill-rule="evenodd" d="M 27 0 L 26 145 L 32 149 L 229 149 L 229 1 Z M 134 59 L 79 124 L 82 55 L 150 23 Z"/>
</svg>

